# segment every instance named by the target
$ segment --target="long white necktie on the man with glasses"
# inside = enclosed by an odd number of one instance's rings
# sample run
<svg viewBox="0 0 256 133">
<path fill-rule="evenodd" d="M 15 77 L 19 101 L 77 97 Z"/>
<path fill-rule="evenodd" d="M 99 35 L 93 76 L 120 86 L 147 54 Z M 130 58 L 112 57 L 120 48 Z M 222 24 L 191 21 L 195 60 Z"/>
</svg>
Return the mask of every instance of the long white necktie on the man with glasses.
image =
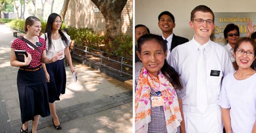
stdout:
<svg viewBox="0 0 256 133">
<path fill-rule="evenodd" d="M 205 49 L 199 47 L 200 54 L 197 66 L 197 109 L 204 113 L 207 106 L 207 87 L 206 87 L 206 65 L 205 65 Z"/>
</svg>

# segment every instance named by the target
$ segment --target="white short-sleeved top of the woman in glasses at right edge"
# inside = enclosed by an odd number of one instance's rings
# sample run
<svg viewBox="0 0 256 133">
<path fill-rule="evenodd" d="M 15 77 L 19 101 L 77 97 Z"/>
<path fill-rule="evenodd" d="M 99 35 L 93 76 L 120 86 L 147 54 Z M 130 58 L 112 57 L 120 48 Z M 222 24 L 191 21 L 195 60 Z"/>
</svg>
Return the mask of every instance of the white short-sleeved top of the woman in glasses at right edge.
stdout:
<svg viewBox="0 0 256 133">
<path fill-rule="evenodd" d="M 230 108 L 233 133 L 251 132 L 256 119 L 256 74 L 237 80 L 233 73 L 224 77 L 218 104 Z"/>
</svg>

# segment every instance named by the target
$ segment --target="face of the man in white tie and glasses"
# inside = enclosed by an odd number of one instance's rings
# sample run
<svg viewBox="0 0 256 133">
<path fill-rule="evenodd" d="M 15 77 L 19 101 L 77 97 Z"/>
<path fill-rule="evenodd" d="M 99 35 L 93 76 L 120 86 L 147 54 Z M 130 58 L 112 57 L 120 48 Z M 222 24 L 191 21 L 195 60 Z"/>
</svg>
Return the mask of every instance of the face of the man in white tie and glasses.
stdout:
<svg viewBox="0 0 256 133">
<path fill-rule="evenodd" d="M 213 20 L 213 16 L 209 12 L 202 12 L 202 11 L 197 11 L 195 13 L 194 19 L 210 19 Z M 189 22 L 190 28 L 194 29 L 195 31 L 195 39 L 198 40 L 203 40 L 203 41 L 208 41 L 209 37 L 214 30 L 214 23 L 212 24 L 206 24 L 206 21 L 204 21 L 202 24 L 198 23 L 196 20 L 192 20 Z"/>
</svg>

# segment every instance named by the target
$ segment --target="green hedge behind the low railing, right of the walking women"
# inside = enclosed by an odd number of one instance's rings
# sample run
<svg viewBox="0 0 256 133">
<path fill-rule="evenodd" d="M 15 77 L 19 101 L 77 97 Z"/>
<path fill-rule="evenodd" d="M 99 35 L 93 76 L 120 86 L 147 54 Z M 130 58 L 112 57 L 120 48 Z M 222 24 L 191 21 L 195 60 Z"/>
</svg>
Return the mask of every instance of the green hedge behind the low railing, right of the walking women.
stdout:
<svg viewBox="0 0 256 133">
<path fill-rule="evenodd" d="M 113 43 L 107 47 L 110 49 L 103 50 L 104 36 L 100 36 L 93 29 L 68 27 L 67 30 L 71 39 L 79 45 L 106 51 L 117 56 L 133 58 L 133 37 L 131 35 L 121 34 L 117 36 Z"/>
</svg>

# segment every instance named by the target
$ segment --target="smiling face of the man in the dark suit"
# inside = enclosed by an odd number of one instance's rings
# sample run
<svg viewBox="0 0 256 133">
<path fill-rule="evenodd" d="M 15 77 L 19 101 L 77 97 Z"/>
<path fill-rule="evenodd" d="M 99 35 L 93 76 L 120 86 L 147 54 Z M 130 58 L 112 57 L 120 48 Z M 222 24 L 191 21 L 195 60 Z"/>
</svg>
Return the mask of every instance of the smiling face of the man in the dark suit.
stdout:
<svg viewBox="0 0 256 133">
<path fill-rule="evenodd" d="M 175 23 L 170 16 L 164 14 L 160 17 L 158 26 L 162 30 L 162 32 L 172 32 L 173 33 L 173 29 L 175 28 Z"/>
</svg>

